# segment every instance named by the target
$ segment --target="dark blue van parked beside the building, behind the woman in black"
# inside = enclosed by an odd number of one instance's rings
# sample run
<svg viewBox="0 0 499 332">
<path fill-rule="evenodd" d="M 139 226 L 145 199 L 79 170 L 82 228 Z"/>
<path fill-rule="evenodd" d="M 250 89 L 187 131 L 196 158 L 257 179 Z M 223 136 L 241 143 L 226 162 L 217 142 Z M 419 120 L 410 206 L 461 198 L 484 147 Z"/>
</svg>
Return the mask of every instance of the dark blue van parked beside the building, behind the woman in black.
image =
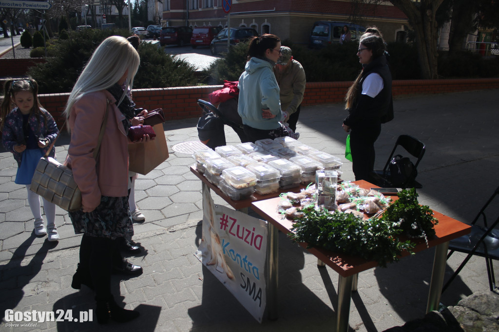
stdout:
<svg viewBox="0 0 499 332">
<path fill-rule="evenodd" d="M 351 40 L 358 40 L 366 31 L 366 28 L 357 24 L 347 22 L 317 21 L 313 23 L 312 31 L 308 40 L 308 47 L 321 48 L 331 43 L 339 43 L 343 26 L 348 26 Z"/>
</svg>

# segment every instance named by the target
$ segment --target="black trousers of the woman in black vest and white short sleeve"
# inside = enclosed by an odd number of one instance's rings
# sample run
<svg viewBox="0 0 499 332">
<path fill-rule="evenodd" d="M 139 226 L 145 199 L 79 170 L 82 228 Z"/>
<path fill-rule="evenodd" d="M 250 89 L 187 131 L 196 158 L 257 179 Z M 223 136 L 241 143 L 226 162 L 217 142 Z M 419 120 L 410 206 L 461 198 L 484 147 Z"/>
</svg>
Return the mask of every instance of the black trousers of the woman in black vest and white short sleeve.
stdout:
<svg viewBox="0 0 499 332">
<path fill-rule="evenodd" d="M 350 127 L 350 149 L 352 151 L 352 169 L 355 180 L 372 183 L 374 170 L 374 142 L 381 133 L 381 123 L 360 123 Z"/>
</svg>

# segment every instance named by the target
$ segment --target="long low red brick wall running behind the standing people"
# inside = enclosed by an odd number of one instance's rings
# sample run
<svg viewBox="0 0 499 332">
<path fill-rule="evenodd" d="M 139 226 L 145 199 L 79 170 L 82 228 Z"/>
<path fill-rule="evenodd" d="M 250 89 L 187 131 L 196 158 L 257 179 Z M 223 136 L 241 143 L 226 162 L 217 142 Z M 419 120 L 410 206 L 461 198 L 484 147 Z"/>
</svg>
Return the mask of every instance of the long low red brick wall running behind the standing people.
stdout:
<svg viewBox="0 0 499 332">
<path fill-rule="evenodd" d="M 307 83 L 301 105 L 343 103 L 345 93 L 351 82 L 311 82 Z M 133 90 L 133 100 L 137 107 L 148 110 L 162 108 L 167 120 L 198 118 L 201 108 L 198 99 L 208 101 L 208 94 L 222 88 L 221 85 L 201 87 L 179 87 L 164 89 Z M 393 95 L 436 94 L 482 89 L 499 89 L 499 78 L 452 79 L 452 80 L 400 80 L 393 81 Z M 40 102 L 62 128 L 62 111 L 69 94 L 40 95 Z"/>
</svg>

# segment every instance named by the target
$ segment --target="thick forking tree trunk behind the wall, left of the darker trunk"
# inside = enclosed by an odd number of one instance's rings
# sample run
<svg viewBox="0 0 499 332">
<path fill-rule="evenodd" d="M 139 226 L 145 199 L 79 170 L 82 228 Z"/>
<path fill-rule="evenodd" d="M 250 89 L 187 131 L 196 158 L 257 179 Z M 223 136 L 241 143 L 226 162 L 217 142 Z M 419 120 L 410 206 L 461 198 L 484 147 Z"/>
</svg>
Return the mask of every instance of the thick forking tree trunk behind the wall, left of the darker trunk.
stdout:
<svg viewBox="0 0 499 332">
<path fill-rule="evenodd" d="M 422 79 L 437 78 L 437 35 L 438 26 L 435 14 L 444 0 L 390 0 L 402 10 L 416 34 L 416 47 L 421 67 Z"/>
</svg>

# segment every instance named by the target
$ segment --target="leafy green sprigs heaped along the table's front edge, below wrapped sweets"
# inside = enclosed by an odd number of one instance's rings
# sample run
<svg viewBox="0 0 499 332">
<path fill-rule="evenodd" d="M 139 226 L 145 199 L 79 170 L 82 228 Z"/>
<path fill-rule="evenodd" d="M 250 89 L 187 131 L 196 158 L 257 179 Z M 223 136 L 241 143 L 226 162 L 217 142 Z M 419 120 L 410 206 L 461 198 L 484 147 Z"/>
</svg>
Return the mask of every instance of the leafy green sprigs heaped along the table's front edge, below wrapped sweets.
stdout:
<svg viewBox="0 0 499 332">
<path fill-rule="evenodd" d="M 306 242 L 326 250 L 374 260 L 381 267 L 396 262 L 404 250 L 412 253 L 414 243 L 400 241 L 402 229 L 397 222 L 377 218 L 363 220 L 353 214 L 316 210 L 313 206 L 303 209 L 304 216 L 295 220 L 291 239 Z"/>
</svg>

